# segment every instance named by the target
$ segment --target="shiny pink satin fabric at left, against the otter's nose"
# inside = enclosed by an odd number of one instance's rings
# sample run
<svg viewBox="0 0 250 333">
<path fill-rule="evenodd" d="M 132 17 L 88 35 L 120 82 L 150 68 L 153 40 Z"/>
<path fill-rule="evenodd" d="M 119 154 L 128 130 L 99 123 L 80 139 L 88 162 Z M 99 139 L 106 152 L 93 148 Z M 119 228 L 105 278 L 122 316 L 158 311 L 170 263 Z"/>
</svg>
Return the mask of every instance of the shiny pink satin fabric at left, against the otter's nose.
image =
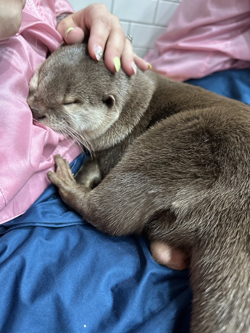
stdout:
<svg viewBox="0 0 250 333">
<path fill-rule="evenodd" d="M 33 124 L 29 81 L 62 42 L 56 16 L 72 11 L 66 1 L 26 0 L 19 32 L 0 41 L 0 223 L 24 213 L 48 186 L 54 155 L 71 162 L 80 154 L 50 128 Z"/>
</svg>

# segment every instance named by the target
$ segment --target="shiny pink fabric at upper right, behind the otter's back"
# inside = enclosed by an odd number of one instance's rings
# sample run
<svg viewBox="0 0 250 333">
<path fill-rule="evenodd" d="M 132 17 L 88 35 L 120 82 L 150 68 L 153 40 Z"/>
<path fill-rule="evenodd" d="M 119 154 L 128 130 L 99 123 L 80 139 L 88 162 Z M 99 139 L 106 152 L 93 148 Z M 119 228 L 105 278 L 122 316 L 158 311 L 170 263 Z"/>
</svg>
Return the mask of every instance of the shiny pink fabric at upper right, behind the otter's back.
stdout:
<svg viewBox="0 0 250 333">
<path fill-rule="evenodd" d="M 249 0 L 183 0 L 145 60 L 173 79 L 250 67 Z"/>
</svg>

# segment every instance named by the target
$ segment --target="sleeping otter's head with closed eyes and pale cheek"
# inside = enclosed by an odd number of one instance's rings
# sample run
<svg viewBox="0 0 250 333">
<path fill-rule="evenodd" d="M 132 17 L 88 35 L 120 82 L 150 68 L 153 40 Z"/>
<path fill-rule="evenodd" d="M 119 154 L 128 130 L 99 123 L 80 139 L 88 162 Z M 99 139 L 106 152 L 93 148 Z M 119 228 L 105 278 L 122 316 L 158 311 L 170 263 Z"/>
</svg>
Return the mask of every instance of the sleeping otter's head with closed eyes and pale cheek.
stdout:
<svg viewBox="0 0 250 333">
<path fill-rule="evenodd" d="M 27 102 L 36 121 L 81 143 L 101 137 L 119 118 L 117 80 L 84 44 L 61 46 L 31 79 Z"/>
</svg>

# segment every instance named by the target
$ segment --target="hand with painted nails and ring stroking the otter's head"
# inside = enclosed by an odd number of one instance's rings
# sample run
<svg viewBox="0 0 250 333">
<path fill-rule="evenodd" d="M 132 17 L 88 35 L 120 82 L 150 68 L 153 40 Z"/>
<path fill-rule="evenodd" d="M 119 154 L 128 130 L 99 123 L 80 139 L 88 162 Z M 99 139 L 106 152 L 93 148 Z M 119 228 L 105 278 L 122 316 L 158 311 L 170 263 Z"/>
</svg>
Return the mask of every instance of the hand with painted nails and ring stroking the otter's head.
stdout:
<svg viewBox="0 0 250 333">
<path fill-rule="evenodd" d="M 105 65 L 115 73 L 122 67 L 127 75 L 142 71 L 150 65 L 133 52 L 126 39 L 119 18 L 112 15 L 103 4 L 93 4 L 71 14 L 58 24 L 58 32 L 67 44 L 81 43 L 89 35 L 88 51 L 92 59 L 100 60 L 105 49 Z"/>
</svg>

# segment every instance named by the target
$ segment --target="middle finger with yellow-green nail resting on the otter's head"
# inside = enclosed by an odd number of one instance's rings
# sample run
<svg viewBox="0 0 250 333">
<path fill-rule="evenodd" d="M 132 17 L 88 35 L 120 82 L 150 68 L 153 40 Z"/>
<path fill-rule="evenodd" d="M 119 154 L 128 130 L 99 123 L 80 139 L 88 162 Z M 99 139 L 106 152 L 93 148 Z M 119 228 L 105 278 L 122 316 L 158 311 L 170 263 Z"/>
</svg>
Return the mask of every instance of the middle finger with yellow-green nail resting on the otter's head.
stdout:
<svg viewBox="0 0 250 333">
<path fill-rule="evenodd" d="M 106 44 L 104 62 L 107 68 L 115 73 L 121 69 L 120 59 L 126 43 L 126 37 L 117 16 L 112 16 L 111 25 L 112 29 Z M 130 51 L 125 52 L 127 52 L 127 57 L 130 58 Z"/>
</svg>

